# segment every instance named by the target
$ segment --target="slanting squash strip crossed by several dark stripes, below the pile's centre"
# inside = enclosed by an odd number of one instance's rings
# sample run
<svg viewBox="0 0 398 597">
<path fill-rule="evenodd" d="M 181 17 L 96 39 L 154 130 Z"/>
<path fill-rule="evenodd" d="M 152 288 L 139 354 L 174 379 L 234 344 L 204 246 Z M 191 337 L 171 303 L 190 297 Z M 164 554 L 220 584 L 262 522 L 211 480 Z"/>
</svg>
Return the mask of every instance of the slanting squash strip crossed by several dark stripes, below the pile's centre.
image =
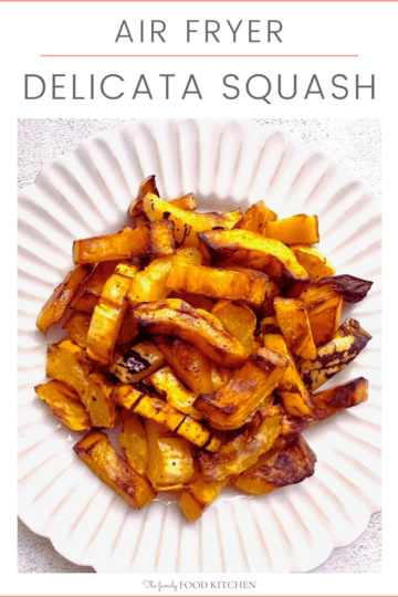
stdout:
<svg viewBox="0 0 398 597">
<path fill-rule="evenodd" d="M 160 398 L 148 396 L 128 384 L 116 386 L 113 399 L 119 406 L 132 409 L 145 419 L 151 419 L 166 426 L 167 429 L 199 446 L 199 448 L 206 448 L 206 450 L 213 452 L 221 446 L 221 441 L 199 421 L 172 408 Z"/>
</svg>

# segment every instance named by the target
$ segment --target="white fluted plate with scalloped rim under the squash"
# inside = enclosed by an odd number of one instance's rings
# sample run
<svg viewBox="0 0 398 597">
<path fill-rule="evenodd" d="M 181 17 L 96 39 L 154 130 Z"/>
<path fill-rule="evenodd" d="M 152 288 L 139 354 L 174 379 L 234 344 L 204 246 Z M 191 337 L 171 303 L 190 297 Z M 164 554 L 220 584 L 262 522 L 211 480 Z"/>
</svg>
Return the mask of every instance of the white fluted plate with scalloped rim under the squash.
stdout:
<svg viewBox="0 0 398 597">
<path fill-rule="evenodd" d="M 80 437 L 35 398 L 52 341 L 35 318 L 71 269 L 76 238 L 115 231 L 139 182 L 156 174 L 166 199 L 193 191 L 200 208 L 280 217 L 316 213 L 320 249 L 374 280 L 346 310 L 374 335 L 333 384 L 365 376 L 369 400 L 305 433 L 315 475 L 264 496 L 232 490 L 192 525 L 176 503 L 136 512 L 75 457 Z M 329 156 L 250 122 L 148 121 L 95 135 L 46 165 L 19 197 L 19 513 L 76 564 L 97 572 L 305 572 L 347 545 L 380 509 L 380 213 L 369 189 Z M 54 334 L 52 335 L 53 337 Z"/>
</svg>

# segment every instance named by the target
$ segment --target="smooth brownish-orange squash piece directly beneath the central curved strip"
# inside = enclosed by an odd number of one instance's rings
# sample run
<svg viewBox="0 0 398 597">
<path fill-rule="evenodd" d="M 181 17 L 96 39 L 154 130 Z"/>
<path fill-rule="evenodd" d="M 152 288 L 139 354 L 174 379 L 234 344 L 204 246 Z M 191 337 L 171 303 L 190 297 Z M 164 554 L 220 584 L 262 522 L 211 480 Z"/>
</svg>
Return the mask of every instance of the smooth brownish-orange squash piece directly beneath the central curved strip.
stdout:
<svg viewBox="0 0 398 597">
<path fill-rule="evenodd" d="M 177 376 L 196 395 L 208 394 L 228 381 L 229 369 L 217 367 L 190 342 L 161 335 L 155 342 Z"/>
</svg>

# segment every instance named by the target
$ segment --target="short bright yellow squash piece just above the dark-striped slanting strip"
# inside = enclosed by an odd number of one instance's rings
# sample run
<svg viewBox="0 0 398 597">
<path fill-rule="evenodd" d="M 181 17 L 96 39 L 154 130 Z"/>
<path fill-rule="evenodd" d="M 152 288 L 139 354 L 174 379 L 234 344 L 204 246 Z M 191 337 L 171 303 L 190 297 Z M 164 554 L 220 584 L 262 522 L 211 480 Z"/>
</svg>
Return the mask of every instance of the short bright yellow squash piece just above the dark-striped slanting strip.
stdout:
<svg viewBox="0 0 398 597">
<path fill-rule="evenodd" d="M 179 410 L 192 417 L 192 419 L 202 419 L 202 415 L 193 408 L 197 394 L 190 391 L 174 374 L 170 366 L 161 367 L 149 377 L 156 391 L 164 396 L 167 402 Z"/>
</svg>

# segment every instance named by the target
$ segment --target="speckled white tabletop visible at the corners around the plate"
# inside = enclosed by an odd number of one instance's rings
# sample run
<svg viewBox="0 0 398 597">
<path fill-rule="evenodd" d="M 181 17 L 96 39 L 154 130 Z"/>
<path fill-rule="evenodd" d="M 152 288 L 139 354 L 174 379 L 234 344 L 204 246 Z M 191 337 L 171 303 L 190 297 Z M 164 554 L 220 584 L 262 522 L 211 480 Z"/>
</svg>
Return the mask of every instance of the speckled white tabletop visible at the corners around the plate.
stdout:
<svg viewBox="0 0 398 597">
<path fill-rule="evenodd" d="M 34 182 L 44 164 L 60 154 L 73 151 L 90 135 L 116 129 L 130 119 L 20 119 L 18 127 L 18 186 Z M 282 126 L 307 143 L 333 155 L 363 178 L 381 200 L 381 125 L 379 119 L 258 119 L 259 124 Z M 55 552 L 51 542 L 32 533 L 18 521 L 18 572 L 95 573 L 77 566 Z M 360 537 L 347 547 L 333 551 L 313 573 L 380 573 L 381 514 L 374 514 Z"/>
</svg>

